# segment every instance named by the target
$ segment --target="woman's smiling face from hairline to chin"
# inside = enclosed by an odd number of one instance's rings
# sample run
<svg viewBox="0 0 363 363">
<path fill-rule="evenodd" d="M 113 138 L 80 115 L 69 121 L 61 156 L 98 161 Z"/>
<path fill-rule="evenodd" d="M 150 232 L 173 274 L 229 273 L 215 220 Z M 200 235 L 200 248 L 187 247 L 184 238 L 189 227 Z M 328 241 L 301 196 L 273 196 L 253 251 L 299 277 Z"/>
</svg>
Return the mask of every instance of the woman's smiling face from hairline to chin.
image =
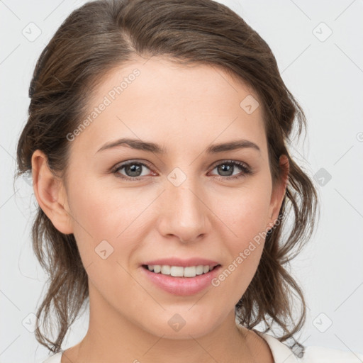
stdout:
<svg viewBox="0 0 363 363">
<path fill-rule="evenodd" d="M 250 284 L 284 194 L 272 194 L 257 95 L 216 67 L 152 57 L 113 69 L 89 116 L 67 136 L 66 209 L 91 320 L 172 338 L 212 331 Z"/>
</svg>

